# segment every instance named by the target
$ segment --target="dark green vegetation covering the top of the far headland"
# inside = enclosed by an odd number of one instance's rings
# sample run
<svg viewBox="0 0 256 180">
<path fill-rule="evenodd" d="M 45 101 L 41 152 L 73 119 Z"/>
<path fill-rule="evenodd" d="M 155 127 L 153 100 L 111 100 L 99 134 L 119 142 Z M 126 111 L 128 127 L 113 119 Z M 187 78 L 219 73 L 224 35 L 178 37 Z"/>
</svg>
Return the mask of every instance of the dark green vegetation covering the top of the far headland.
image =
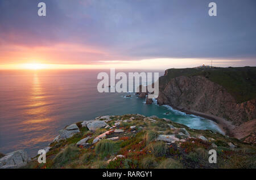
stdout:
<svg viewBox="0 0 256 180">
<path fill-rule="evenodd" d="M 224 87 L 238 103 L 256 98 L 256 67 L 171 68 L 159 78 L 159 87 L 179 76 L 204 76 Z"/>
</svg>

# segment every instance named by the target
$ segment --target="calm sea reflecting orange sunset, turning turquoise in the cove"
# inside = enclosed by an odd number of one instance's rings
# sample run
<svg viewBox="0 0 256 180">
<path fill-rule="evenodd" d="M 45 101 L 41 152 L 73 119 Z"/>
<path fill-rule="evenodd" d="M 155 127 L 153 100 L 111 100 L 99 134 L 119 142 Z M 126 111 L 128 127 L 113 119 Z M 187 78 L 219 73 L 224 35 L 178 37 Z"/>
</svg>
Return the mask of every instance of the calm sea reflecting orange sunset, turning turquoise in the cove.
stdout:
<svg viewBox="0 0 256 180">
<path fill-rule="evenodd" d="M 221 132 L 209 119 L 166 105 L 146 105 L 135 93 L 99 93 L 99 72 L 102 70 L 0 71 L 0 152 L 25 149 L 35 156 L 65 126 L 100 115 L 157 115 L 191 128 Z"/>
</svg>

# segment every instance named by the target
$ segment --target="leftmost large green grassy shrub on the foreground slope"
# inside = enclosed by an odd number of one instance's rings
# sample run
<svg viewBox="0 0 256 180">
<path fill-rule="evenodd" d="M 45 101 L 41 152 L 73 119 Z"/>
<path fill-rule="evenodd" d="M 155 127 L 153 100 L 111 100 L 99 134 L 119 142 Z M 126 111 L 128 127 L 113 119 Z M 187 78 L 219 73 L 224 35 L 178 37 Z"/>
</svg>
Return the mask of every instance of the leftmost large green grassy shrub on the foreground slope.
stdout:
<svg viewBox="0 0 256 180">
<path fill-rule="evenodd" d="M 53 158 L 53 164 L 55 167 L 62 167 L 63 165 L 67 164 L 67 162 L 72 161 L 80 154 L 79 148 L 68 145 L 63 151 L 58 153 L 55 158 Z"/>
</svg>

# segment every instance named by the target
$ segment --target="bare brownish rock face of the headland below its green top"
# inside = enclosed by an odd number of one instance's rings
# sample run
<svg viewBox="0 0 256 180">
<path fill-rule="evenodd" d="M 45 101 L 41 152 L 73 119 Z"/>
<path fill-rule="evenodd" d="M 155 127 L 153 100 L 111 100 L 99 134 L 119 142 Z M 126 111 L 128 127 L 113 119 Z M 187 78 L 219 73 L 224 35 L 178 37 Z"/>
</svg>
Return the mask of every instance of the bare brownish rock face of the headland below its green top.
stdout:
<svg viewBox="0 0 256 180">
<path fill-rule="evenodd" d="M 160 80 L 157 100 L 159 105 L 207 113 L 236 125 L 256 118 L 255 99 L 237 104 L 224 87 L 204 76 L 179 76 L 167 83 Z"/>
</svg>

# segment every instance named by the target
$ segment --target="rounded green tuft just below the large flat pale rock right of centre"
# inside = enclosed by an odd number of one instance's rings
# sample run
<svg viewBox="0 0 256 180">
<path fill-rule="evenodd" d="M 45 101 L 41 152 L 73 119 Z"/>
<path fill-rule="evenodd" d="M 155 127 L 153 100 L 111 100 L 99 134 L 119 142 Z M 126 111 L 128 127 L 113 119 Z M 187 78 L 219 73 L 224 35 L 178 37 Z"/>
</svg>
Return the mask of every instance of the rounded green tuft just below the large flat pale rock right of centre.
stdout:
<svg viewBox="0 0 256 180">
<path fill-rule="evenodd" d="M 148 152 L 152 153 L 156 157 L 165 156 L 168 152 L 168 146 L 164 142 L 153 142 L 147 146 Z"/>
</svg>

